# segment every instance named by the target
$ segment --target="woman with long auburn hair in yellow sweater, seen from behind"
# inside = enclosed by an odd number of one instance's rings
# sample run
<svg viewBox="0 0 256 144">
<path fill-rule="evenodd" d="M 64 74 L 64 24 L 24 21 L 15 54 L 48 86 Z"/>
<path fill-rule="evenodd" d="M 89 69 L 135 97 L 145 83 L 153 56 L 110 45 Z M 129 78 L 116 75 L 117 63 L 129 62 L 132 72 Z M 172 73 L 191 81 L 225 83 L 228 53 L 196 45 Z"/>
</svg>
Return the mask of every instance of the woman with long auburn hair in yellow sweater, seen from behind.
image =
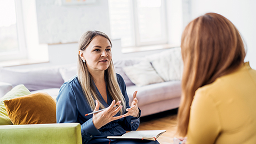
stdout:
<svg viewBox="0 0 256 144">
<path fill-rule="evenodd" d="M 184 71 L 174 143 L 256 143 L 256 70 L 243 40 L 216 13 L 192 20 L 181 38 Z"/>
</svg>

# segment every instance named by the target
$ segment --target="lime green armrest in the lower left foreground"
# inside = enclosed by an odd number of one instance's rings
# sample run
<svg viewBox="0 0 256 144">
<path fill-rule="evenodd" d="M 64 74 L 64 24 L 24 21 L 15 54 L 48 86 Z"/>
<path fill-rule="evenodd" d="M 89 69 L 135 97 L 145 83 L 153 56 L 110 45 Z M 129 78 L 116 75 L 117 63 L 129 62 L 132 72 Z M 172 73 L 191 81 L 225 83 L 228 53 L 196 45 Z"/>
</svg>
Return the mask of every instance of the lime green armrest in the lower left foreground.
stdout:
<svg viewBox="0 0 256 144">
<path fill-rule="evenodd" d="M 82 144 L 78 123 L 0 126 L 0 143 Z"/>
</svg>

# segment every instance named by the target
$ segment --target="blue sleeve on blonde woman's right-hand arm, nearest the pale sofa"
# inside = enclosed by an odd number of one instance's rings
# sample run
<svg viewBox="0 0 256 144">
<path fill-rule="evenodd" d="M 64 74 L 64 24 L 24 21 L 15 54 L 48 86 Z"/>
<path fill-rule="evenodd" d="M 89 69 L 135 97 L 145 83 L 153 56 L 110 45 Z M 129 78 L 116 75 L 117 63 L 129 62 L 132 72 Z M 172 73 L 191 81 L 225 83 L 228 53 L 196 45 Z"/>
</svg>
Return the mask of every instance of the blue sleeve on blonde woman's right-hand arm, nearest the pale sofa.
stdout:
<svg viewBox="0 0 256 144">
<path fill-rule="evenodd" d="M 122 76 L 119 74 L 117 74 L 117 81 L 118 81 L 120 89 L 122 91 L 122 95 L 124 95 L 124 97 L 125 97 L 126 109 L 130 108 L 129 96 L 127 95 L 127 92 L 126 92 L 125 81 L 122 78 Z M 125 111 L 125 113 L 127 113 L 127 111 Z M 126 131 L 136 131 L 137 130 L 137 128 L 140 125 L 140 113 L 141 113 L 141 110 L 139 109 L 138 117 L 133 117 L 133 116 L 125 117 L 124 121 L 121 122 L 121 125 L 122 125 L 122 127 L 124 127 L 124 130 L 126 130 Z"/>
</svg>

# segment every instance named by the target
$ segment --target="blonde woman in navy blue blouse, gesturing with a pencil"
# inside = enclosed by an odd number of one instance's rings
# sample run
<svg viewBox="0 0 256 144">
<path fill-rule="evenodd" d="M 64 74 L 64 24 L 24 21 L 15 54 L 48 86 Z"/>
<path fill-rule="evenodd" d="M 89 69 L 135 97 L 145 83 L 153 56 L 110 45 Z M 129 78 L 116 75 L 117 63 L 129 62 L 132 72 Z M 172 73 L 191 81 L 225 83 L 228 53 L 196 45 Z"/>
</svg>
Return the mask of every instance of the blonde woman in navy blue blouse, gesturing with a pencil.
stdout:
<svg viewBox="0 0 256 144">
<path fill-rule="evenodd" d="M 106 138 L 137 130 L 140 124 L 136 91 L 129 106 L 124 79 L 114 70 L 111 48 L 105 33 L 88 31 L 82 35 L 78 74 L 61 86 L 57 97 L 57 123 L 80 123 L 83 143 L 158 143 Z"/>
</svg>

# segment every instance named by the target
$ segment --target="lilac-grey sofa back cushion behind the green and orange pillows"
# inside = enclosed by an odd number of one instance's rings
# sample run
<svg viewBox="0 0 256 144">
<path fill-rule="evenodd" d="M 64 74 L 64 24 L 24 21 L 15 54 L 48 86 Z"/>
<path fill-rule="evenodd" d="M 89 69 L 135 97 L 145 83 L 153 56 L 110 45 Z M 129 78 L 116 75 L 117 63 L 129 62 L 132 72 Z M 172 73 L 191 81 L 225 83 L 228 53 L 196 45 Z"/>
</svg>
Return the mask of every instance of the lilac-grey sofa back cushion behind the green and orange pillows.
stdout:
<svg viewBox="0 0 256 144">
<path fill-rule="evenodd" d="M 27 70 L 0 68 L 0 81 L 13 86 L 24 84 L 30 91 L 60 88 L 64 83 L 59 68 Z"/>
</svg>

